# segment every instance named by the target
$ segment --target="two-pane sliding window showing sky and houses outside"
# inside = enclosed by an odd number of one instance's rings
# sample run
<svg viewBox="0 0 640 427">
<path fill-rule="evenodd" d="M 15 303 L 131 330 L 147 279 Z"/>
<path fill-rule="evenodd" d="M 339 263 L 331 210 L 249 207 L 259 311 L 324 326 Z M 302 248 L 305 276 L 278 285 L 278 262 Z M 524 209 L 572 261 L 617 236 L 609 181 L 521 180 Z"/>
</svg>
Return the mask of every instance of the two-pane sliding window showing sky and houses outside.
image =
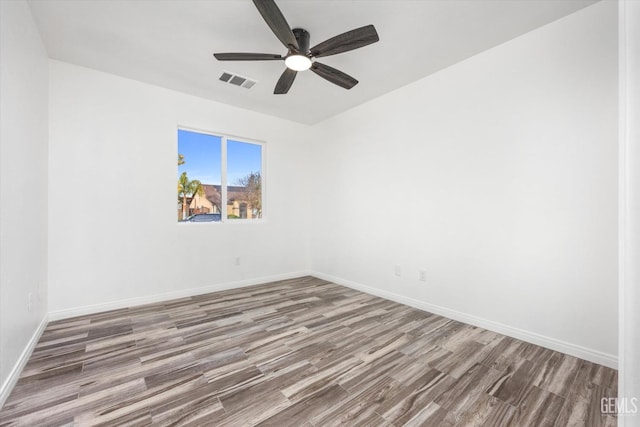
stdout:
<svg viewBox="0 0 640 427">
<path fill-rule="evenodd" d="M 263 149 L 259 142 L 178 129 L 178 221 L 262 218 Z"/>
</svg>

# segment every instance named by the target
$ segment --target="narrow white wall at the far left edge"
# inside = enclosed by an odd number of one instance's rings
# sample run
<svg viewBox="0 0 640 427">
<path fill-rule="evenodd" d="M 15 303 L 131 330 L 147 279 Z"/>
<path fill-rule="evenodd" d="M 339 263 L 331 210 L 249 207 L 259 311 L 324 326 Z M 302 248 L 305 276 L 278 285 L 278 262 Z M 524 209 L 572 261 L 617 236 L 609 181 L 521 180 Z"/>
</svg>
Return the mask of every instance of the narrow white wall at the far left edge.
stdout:
<svg viewBox="0 0 640 427">
<path fill-rule="evenodd" d="M 2 406 L 46 319 L 49 78 L 47 55 L 27 4 L 0 1 L 0 19 Z"/>
</svg>

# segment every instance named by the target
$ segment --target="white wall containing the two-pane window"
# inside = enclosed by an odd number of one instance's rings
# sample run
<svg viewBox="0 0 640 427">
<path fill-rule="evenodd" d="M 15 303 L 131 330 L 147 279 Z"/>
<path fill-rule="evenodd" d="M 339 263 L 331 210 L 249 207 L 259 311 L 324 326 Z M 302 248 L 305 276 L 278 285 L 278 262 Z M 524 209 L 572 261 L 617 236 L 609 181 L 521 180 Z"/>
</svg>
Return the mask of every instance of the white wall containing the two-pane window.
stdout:
<svg viewBox="0 0 640 427">
<path fill-rule="evenodd" d="M 52 318 L 308 269 L 306 127 L 57 61 L 50 79 Z M 178 126 L 266 141 L 263 223 L 176 223 Z"/>
</svg>

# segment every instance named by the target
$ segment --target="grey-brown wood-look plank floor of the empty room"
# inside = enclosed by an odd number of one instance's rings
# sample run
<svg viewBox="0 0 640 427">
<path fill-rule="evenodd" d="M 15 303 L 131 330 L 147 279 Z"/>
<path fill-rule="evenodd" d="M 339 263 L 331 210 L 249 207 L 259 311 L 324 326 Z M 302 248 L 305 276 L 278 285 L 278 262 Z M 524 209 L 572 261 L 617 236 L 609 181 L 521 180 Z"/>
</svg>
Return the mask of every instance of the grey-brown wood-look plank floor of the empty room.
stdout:
<svg viewBox="0 0 640 427">
<path fill-rule="evenodd" d="M 1 426 L 614 426 L 617 372 L 313 277 L 51 322 Z"/>
</svg>

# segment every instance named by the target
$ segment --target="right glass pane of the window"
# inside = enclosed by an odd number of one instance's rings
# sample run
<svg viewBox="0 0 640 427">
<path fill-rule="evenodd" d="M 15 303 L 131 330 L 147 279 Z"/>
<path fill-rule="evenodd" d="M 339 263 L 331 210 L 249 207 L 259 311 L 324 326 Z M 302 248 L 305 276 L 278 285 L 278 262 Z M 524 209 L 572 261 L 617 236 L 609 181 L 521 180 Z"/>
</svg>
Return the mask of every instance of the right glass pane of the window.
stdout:
<svg viewBox="0 0 640 427">
<path fill-rule="evenodd" d="M 262 218 L 262 145 L 227 140 L 227 217 Z"/>
</svg>

